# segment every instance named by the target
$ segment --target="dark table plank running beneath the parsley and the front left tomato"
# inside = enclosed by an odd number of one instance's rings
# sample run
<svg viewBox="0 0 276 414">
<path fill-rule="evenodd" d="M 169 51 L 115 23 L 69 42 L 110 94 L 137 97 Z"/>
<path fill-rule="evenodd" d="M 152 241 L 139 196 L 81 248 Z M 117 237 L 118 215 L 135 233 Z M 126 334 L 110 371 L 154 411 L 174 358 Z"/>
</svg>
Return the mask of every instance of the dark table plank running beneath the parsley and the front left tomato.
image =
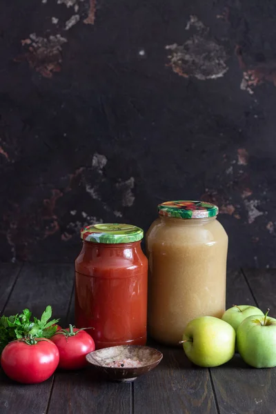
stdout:
<svg viewBox="0 0 276 414">
<path fill-rule="evenodd" d="M 61 322 L 64 322 L 73 281 L 71 265 L 26 265 L 12 290 L 5 314 L 12 315 L 27 307 L 34 315 L 40 316 L 46 306 L 51 304 L 54 316 L 61 317 Z M 53 377 L 42 384 L 19 385 L 8 380 L 0 371 L 0 413 L 46 413 L 52 381 Z"/>
</svg>

